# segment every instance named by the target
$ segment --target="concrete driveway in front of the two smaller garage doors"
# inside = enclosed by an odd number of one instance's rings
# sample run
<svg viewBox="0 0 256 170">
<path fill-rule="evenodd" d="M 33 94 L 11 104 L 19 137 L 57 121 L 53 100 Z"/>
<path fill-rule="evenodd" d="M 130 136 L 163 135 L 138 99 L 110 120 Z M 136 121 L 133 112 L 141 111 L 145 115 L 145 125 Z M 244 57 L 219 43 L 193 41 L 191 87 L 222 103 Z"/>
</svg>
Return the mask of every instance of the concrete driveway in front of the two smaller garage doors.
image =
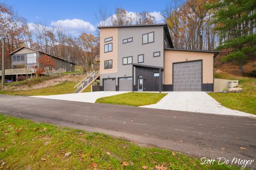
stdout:
<svg viewBox="0 0 256 170">
<path fill-rule="evenodd" d="M 95 92 L 82 92 L 80 94 L 65 94 L 65 95 L 51 95 L 51 96 L 30 96 L 30 97 L 67 100 L 67 101 L 81 101 L 81 102 L 86 102 L 86 103 L 95 103 L 95 101 L 98 98 L 124 94 L 125 92 L 127 92 L 127 91 L 95 91 Z"/>
</svg>

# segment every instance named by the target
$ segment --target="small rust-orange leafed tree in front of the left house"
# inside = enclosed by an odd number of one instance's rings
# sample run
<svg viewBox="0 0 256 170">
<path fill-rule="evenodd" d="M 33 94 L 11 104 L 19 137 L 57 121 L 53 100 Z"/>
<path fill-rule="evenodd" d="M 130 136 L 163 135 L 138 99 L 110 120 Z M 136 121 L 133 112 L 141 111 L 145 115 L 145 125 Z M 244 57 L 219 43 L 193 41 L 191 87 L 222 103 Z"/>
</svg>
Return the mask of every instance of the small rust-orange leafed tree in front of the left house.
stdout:
<svg viewBox="0 0 256 170">
<path fill-rule="evenodd" d="M 39 63 L 39 69 L 41 68 L 41 72 L 46 71 L 47 74 L 49 72 L 49 70 L 52 70 L 53 67 L 55 67 L 55 60 L 46 54 L 41 55 L 40 57 L 38 57 L 38 63 Z M 43 69 L 43 70 L 42 70 Z"/>
</svg>

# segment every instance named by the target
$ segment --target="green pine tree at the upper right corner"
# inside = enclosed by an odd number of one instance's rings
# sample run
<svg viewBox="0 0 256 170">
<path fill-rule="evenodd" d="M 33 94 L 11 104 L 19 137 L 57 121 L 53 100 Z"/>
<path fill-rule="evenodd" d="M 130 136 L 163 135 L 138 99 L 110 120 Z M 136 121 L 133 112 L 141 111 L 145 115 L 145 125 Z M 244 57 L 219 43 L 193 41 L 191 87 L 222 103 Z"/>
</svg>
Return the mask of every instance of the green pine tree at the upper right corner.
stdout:
<svg viewBox="0 0 256 170">
<path fill-rule="evenodd" d="M 238 61 L 240 73 L 243 64 L 256 55 L 255 7 L 255 0 L 221 0 L 207 5 L 214 9 L 214 29 L 220 35 L 217 50 L 231 50 L 221 61 Z"/>
</svg>

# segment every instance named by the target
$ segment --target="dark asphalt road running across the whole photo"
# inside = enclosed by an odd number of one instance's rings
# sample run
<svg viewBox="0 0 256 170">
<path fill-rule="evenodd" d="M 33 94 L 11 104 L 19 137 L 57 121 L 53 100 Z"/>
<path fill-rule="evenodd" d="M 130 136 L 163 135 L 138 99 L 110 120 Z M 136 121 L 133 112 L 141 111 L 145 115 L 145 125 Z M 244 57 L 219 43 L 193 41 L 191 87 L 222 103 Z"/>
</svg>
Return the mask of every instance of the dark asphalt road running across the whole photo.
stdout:
<svg viewBox="0 0 256 170">
<path fill-rule="evenodd" d="M 107 133 L 198 158 L 254 159 L 251 167 L 256 167 L 255 118 L 7 95 L 0 95 L 0 113 Z"/>
</svg>

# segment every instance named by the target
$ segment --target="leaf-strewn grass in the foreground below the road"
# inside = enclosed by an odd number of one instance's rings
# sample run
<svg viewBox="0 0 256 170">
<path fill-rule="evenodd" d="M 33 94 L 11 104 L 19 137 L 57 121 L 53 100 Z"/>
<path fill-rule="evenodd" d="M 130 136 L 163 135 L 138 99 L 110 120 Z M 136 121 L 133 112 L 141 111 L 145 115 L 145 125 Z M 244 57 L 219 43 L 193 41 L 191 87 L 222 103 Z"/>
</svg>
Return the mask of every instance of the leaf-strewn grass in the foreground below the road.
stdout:
<svg viewBox="0 0 256 170">
<path fill-rule="evenodd" d="M 239 169 L 201 165 L 171 150 L 2 114 L 0 140 L 0 169 Z"/>
</svg>

